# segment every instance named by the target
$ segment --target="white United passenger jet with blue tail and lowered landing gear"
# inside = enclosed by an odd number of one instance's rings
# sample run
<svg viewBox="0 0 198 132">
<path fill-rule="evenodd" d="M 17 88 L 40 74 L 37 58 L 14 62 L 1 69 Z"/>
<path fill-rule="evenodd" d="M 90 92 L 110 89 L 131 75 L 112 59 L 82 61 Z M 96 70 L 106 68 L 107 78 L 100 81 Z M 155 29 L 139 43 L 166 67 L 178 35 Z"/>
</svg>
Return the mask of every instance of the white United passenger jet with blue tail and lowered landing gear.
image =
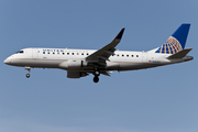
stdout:
<svg viewBox="0 0 198 132">
<path fill-rule="evenodd" d="M 94 75 L 94 81 L 99 76 L 118 70 L 145 69 L 194 59 L 186 56 L 193 48 L 185 48 L 190 24 L 182 24 L 162 46 L 147 52 L 117 51 L 124 28 L 111 43 L 102 48 L 23 48 L 4 59 L 4 64 L 24 67 L 30 77 L 31 68 L 58 68 L 67 70 L 68 78 Z"/>
</svg>

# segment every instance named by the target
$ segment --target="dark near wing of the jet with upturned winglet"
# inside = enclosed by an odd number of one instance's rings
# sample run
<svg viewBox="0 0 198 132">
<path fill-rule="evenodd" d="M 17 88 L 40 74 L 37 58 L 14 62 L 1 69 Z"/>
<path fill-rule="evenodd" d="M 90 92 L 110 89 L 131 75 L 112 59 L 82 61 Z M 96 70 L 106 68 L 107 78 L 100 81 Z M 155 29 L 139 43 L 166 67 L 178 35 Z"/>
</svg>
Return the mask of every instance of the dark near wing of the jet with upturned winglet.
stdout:
<svg viewBox="0 0 198 132">
<path fill-rule="evenodd" d="M 111 43 L 89 55 L 86 58 L 86 61 L 88 63 L 95 63 L 106 66 L 106 61 L 109 61 L 109 57 L 111 55 L 114 55 L 114 47 L 120 43 L 123 32 L 124 28 L 119 32 L 119 34 L 114 37 L 114 40 Z"/>
</svg>

